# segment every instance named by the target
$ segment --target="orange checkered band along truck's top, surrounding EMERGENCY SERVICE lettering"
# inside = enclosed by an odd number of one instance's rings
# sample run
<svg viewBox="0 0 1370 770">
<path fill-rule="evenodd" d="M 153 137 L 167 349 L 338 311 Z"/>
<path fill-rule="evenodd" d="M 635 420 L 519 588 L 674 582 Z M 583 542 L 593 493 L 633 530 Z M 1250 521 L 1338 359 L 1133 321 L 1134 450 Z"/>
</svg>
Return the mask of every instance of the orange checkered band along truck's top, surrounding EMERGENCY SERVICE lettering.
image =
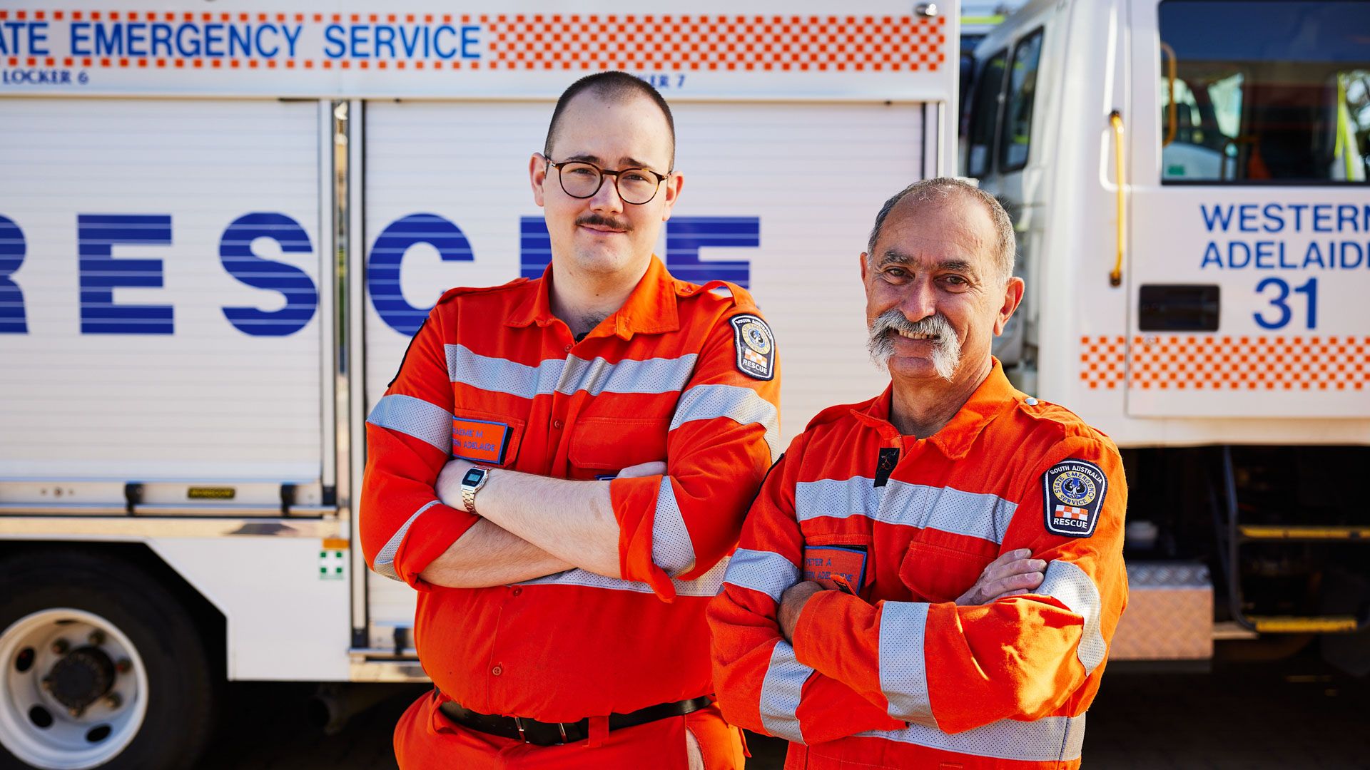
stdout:
<svg viewBox="0 0 1370 770">
<path fill-rule="evenodd" d="M 5 11 L 26 21 L 480 23 L 482 59 L 19 58 L 8 64 L 108 69 L 936 71 L 945 16 L 455 15 Z"/>
</svg>

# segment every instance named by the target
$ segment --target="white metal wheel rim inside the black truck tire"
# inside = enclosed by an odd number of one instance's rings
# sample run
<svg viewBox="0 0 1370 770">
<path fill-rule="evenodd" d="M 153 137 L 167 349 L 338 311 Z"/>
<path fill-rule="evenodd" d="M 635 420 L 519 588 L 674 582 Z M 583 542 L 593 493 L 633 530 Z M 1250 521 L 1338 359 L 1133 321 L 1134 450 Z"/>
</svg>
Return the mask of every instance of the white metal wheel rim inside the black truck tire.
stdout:
<svg viewBox="0 0 1370 770">
<path fill-rule="evenodd" d="M 127 660 L 126 673 L 115 674 L 107 697 L 73 717 L 42 686 L 44 677 L 62 658 L 53 643 L 66 640 L 73 648 L 90 645 L 92 633 L 104 634 L 99 647 L 110 660 Z M 27 667 L 25 651 L 32 649 Z M 138 734 L 148 711 L 148 671 L 137 648 L 110 621 L 84 610 L 40 610 L 15 621 L 0 633 L 0 665 L 4 689 L 0 692 L 0 744 L 22 762 L 44 770 L 85 770 L 110 762 Z M 22 670 L 21 670 L 22 669 Z M 42 712 L 51 718 L 45 728 Z M 107 729 L 107 730 L 105 730 Z M 103 734 L 107 732 L 107 734 Z M 92 740 L 95 737 L 96 740 Z"/>
</svg>

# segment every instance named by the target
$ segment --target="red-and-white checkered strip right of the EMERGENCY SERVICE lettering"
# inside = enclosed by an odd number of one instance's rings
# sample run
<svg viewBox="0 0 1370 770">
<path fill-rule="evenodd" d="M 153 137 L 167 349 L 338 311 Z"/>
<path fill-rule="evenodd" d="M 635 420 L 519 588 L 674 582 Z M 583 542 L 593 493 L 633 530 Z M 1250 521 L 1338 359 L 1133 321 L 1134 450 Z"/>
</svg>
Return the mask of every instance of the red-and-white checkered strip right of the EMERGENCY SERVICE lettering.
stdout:
<svg viewBox="0 0 1370 770">
<path fill-rule="evenodd" d="M 486 66 L 506 70 L 917 71 L 945 60 L 944 16 L 497 15 Z"/>
</svg>

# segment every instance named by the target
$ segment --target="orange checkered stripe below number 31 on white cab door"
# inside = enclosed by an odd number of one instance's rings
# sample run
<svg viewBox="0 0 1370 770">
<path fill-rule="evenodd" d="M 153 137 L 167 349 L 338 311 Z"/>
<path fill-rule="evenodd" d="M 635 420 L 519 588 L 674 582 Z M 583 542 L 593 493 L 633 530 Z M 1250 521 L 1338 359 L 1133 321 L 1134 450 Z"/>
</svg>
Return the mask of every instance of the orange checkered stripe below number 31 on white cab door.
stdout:
<svg viewBox="0 0 1370 770">
<path fill-rule="evenodd" d="M 1363 390 L 1370 337 L 1156 336 L 1080 338 L 1089 388 L 1175 390 Z"/>
</svg>

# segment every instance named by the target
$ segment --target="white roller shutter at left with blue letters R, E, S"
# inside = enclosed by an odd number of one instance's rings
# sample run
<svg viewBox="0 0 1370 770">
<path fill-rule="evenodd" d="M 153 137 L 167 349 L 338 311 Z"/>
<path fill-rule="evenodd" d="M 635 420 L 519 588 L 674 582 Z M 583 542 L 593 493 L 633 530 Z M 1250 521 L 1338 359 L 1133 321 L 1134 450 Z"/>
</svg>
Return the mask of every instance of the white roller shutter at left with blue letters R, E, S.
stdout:
<svg viewBox="0 0 1370 770">
<path fill-rule="evenodd" d="M 0 333 L 0 480 L 319 481 L 321 318 L 301 289 L 319 289 L 318 115 L 274 100 L 4 103 L 0 227 L 22 262 L 3 278 L 26 329 Z M 145 243 L 111 245 L 101 227 Z M 230 322 L 225 308 L 286 306 L 230 273 L 221 249 L 242 248 L 289 266 L 236 270 L 296 286 L 293 321 Z M 82 249 L 110 262 L 82 266 Z M 145 285 L 101 297 L 111 267 Z M 111 300 L 170 307 L 170 329 L 129 318 L 147 311 L 101 326 Z"/>
</svg>

